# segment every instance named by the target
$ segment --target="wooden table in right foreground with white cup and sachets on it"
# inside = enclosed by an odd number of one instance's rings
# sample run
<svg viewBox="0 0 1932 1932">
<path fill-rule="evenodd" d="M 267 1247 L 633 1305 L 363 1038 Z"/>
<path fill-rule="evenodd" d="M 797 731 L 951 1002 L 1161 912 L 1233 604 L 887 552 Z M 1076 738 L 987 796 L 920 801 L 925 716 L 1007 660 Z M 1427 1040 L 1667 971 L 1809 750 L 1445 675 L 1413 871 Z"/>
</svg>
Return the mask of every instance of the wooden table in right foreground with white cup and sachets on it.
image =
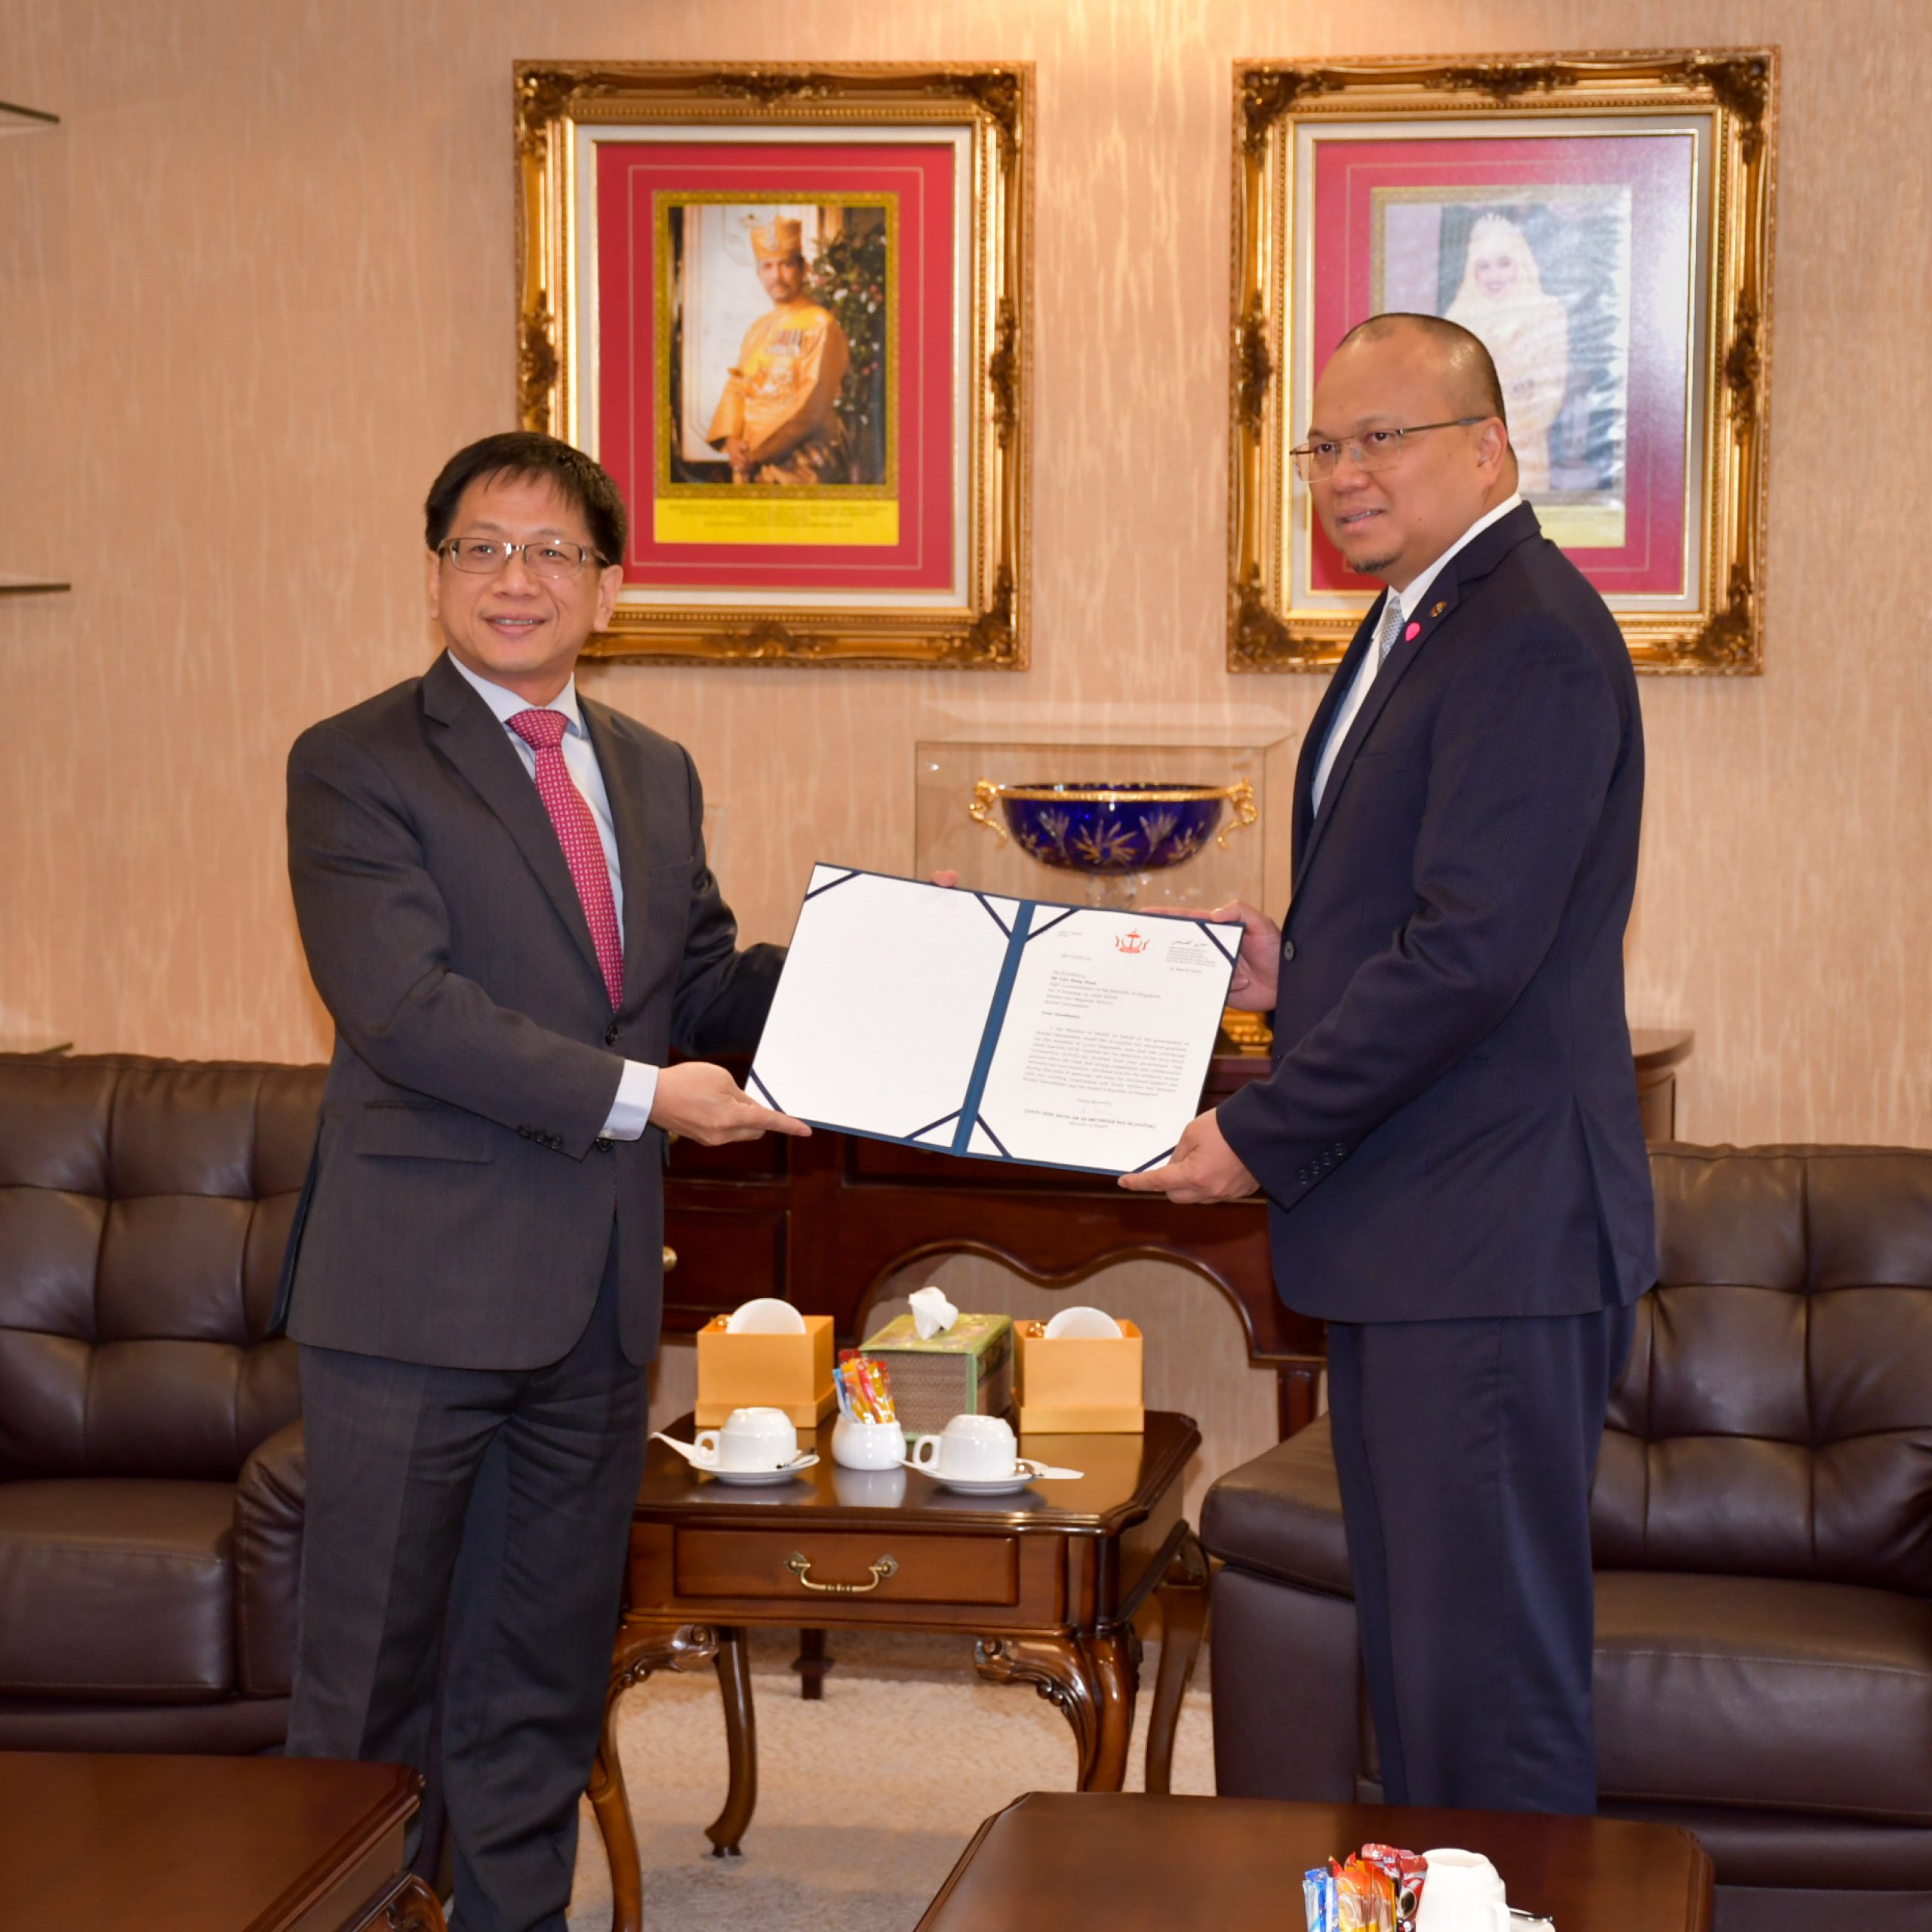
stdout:
<svg viewBox="0 0 1932 1932">
<path fill-rule="evenodd" d="M 1393 1804 L 1034 1793 L 980 1826 L 918 1932 L 1287 1932 L 1302 1872 L 1364 1843 L 1464 1845 L 1557 1932 L 1708 1932 L 1712 1866 L 1677 1826 Z"/>
</svg>

